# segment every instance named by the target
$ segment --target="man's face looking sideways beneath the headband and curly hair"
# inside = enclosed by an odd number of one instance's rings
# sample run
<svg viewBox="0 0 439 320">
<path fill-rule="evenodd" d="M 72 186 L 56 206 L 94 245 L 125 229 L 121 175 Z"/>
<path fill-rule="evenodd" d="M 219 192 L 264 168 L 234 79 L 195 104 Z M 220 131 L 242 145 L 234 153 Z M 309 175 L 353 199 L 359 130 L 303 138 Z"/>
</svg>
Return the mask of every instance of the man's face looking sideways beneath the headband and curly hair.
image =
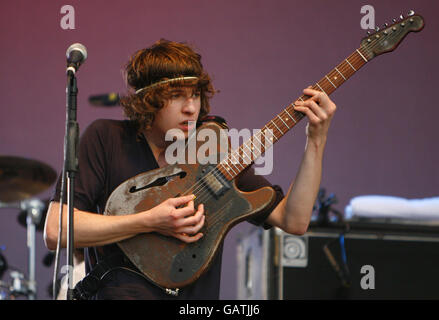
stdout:
<svg viewBox="0 0 439 320">
<path fill-rule="evenodd" d="M 170 129 L 180 129 L 185 137 L 194 129 L 188 121 L 195 123 L 200 114 L 200 93 L 192 87 L 174 88 L 171 99 L 158 111 L 153 122 L 153 128 L 166 135 Z"/>
</svg>

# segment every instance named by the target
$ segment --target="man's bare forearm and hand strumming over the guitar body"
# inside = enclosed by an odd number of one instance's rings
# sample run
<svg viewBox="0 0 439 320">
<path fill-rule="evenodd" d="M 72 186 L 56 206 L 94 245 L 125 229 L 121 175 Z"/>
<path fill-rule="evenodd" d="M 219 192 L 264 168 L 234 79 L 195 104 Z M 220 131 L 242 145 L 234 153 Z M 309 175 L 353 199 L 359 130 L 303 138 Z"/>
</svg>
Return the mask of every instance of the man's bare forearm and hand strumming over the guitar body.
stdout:
<svg viewBox="0 0 439 320">
<path fill-rule="evenodd" d="M 118 242 L 144 232 L 158 232 L 184 242 L 194 242 L 203 235 L 198 231 L 204 224 L 204 207 L 195 212 L 193 195 L 171 198 L 140 213 L 123 216 L 101 214 L 74 209 L 74 246 L 76 248 L 102 246 Z M 178 208 L 187 203 L 187 206 Z M 44 227 L 44 241 L 55 250 L 59 231 L 59 202 L 51 202 Z M 67 244 L 67 206 L 63 209 L 61 246 Z"/>
</svg>

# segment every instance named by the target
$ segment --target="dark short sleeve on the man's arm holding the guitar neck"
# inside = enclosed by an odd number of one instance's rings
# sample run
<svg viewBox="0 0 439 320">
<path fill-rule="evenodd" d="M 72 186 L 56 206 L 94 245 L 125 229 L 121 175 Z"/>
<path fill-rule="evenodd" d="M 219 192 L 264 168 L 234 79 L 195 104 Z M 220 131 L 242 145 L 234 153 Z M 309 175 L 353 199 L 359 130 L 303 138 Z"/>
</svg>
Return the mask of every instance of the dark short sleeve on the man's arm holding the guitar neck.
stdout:
<svg viewBox="0 0 439 320">
<path fill-rule="evenodd" d="M 268 216 L 276 208 L 276 206 L 284 198 L 284 192 L 278 185 L 272 185 L 262 175 L 256 175 L 253 167 L 246 169 L 237 180 L 237 187 L 242 191 L 254 191 L 262 187 L 271 187 L 276 192 L 275 201 L 265 210 L 261 211 L 258 215 L 247 220 L 251 224 L 262 226 L 264 229 L 269 229 L 272 226 L 266 223 Z"/>
</svg>

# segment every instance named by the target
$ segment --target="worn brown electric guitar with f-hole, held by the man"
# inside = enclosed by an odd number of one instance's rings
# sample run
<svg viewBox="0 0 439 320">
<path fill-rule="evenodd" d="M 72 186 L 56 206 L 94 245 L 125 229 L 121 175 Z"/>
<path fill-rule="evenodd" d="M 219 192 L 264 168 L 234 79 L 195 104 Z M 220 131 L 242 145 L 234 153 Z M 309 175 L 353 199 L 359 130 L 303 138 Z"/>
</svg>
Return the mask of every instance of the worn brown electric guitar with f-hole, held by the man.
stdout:
<svg viewBox="0 0 439 320">
<path fill-rule="evenodd" d="M 330 95 L 374 57 L 391 52 L 410 32 L 424 27 L 421 16 L 413 11 L 383 30 L 365 37 L 361 45 L 320 81 L 313 89 Z M 309 98 L 302 95 L 298 100 Z M 297 100 L 295 100 L 297 101 Z M 126 215 L 149 210 L 168 198 L 194 194 L 195 207 L 204 204 L 204 236 L 195 243 L 184 243 L 158 233 L 139 234 L 118 243 L 130 261 L 155 285 L 163 289 L 181 288 L 196 281 L 211 265 L 227 232 L 267 208 L 275 200 L 272 188 L 243 192 L 235 178 L 265 150 L 292 129 L 304 114 L 294 103 L 269 121 L 238 149 L 229 152 L 217 164 L 175 164 L 137 175 L 110 195 L 105 215 Z M 215 122 L 202 126 L 221 135 Z M 199 132 L 200 130 L 198 130 Z M 271 136 L 267 137 L 267 131 Z M 197 148 L 200 148 L 197 144 Z M 218 157 L 219 158 L 219 157 Z"/>
</svg>

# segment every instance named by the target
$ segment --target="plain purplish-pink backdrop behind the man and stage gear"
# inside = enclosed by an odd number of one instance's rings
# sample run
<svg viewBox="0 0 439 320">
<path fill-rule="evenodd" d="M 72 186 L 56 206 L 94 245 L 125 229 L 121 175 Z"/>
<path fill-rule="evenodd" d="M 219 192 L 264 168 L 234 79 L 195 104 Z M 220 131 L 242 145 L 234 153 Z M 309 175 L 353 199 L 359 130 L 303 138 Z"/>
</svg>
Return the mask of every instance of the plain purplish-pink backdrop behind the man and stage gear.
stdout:
<svg viewBox="0 0 439 320">
<path fill-rule="evenodd" d="M 75 8 L 75 30 L 60 27 L 64 4 Z M 122 118 L 119 108 L 93 107 L 87 99 L 124 92 L 121 70 L 128 57 L 160 38 L 193 44 L 221 90 L 212 113 L 230 127 L 253 129 L 359 46 L 365 4 L 374 6 L 379 25 L 413 9 L 426 27 L 333 95 L 338 111 L 322 186 L 337 195 L 342 211 L 350 198 L 363 194 L 437 196 L 436 1 L 7 1 L 0 13 L 0 154 L 61 168 L 65 51 L 74 42 L 89 54 L 78 73 L 81 132 L 96 118 Z M 274 148 L 275 169 L 268 178 L 285 190 L 301 159 L 304 127 L 305 121 Z M 0 210 L 3 254 L 10 265 L 26 270 L 25 228 L 17 223 L 17 210 Z M 236 238 L 247 228 L 233 229 L 225 243 L 224 299 L 236 297 Z M 41 263 L 47 250 L 42 234 L 37 236 L 38 298 L 46 299 L 52 269 Z"/>
</svg>

